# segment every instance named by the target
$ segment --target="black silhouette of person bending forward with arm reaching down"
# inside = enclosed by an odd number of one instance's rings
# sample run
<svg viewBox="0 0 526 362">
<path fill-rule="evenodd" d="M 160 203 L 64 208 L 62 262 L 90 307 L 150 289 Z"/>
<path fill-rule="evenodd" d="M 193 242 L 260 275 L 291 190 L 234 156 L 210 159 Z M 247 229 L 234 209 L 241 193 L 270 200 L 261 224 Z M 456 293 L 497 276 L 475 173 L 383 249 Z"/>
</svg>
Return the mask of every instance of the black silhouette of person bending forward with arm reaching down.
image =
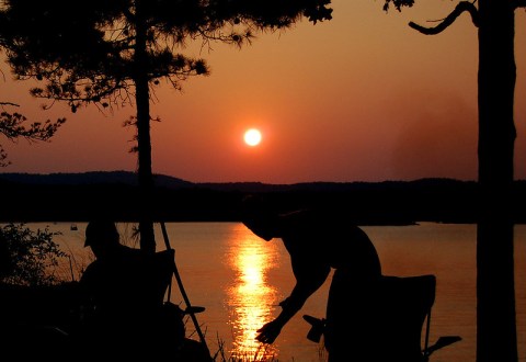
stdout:
<svg viewBox="0 0 526 362">
<path fill-rule="evenodd" d="M 381 268 L 368 236 L 342 215 L 317 210 L 278 214 L 255 196 L 243 200 L 241 219 L 266 241 L 282 239 L 296 278 L 290 295 L 279 303 L 282 312 L 258 330 L 256 339 L 274 342 L 334 269 L 324 329 L 329 361 L 374 361 L 374 305 Z"/>
</svg>

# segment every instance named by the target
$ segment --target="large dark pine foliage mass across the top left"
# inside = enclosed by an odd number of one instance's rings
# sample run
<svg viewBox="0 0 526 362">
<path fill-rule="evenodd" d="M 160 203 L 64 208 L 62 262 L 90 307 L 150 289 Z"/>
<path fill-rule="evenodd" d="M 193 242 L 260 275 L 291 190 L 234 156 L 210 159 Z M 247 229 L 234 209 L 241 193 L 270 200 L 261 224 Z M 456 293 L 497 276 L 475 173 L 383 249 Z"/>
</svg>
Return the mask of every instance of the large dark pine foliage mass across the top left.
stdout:
<svg viewBox="0 0 526 362">
<path fill-rule="evenodd" d="M 8 0 L 0 33 L 18 79 L 45 80 L 37 98 L 104 109 L 133 103 L 133 86 L 146 76 L 150 86 L 165 78 L 175 89 L 190 76 L 208 75 L 204 59 L 181 54 L 201 39 L 241 46 L 254 32 L 288 27 L 302 16 L 331 19 L 330 0 L 115 0 L 90 1 L 78 11 L 66 0 Z M 144 39 L 140 30 L 144 29 Z M 146 63 L 137 64 L 141 42 Z"/>
</svg>

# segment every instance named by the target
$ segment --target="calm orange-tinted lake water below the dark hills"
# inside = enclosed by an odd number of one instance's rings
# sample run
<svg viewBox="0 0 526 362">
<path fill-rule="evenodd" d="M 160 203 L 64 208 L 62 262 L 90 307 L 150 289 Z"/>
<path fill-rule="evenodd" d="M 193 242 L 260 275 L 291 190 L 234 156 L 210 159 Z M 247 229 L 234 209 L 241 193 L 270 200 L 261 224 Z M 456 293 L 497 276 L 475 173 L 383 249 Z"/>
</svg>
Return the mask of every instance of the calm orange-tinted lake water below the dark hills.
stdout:
<svg viewBox="0 0 526 362">
<path fill-rule="evenodd" d="M 28 224 L 60 230 L 56 240 L 71 252 L 77 275 L 92 259 L 82 248 L 85 224 Z M 133 242 L 132 225 L 118 225 L 125 242 Z M 302 314 L 323 317 L 330 279 L 285 326 L 272 348 L 259 350 L 255 330 L 279 313 L 277 304 L 293 287 L 288 254 L 281 240 L 265 242 L 238 223 L 169 223 L 170 244 L 191 303 L 204 306 L 197 315 L 211 352 L 224 343 L 226 355 L 273 355 L 279 362 L 324 361 L 322 349 L 306 339 L 309 325 Z M 433 354 L 434 362 L 474 361 L 476 354 L 476 225 L 422 223 L 415 226 L 364 227 L 378 249 L 384 274 L 409 276 L 435 274 L 430 342 L 439 336 L 462 340 Z M 158 249 L 164 249 L 160 227 Z M 526 361 L 526 225 L 515 227 L 515 263 L 519 360 Z M 78 276 L 75 276 L 78 278 Z M 171 302 L 182 296 L 173 283 Z M 194 330 L 188 320 L 188 332 Z M 195 336 L 194 336 L 195 337 Z M 196 338 L 196 337 L 195 337 Z M 321 355 L 320 355 L 321 354 Z M 253 361 L 248 359 L 247 361 Z"/>
</svg>

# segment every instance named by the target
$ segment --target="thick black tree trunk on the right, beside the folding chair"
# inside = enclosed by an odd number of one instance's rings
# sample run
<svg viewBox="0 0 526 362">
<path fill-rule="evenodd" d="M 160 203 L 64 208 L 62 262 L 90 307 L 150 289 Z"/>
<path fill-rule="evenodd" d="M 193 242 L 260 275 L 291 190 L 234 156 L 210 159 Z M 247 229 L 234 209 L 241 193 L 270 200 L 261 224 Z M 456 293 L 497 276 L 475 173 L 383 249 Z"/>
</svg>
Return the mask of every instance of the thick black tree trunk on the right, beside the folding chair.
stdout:
<svg viewBox="0 0 526 362">
<path fill-rule="evenodd" d="M 515 56 L 510 1 L 479 0 L 477 361 L 516 362 L 513 217 Z"/>
</svg>

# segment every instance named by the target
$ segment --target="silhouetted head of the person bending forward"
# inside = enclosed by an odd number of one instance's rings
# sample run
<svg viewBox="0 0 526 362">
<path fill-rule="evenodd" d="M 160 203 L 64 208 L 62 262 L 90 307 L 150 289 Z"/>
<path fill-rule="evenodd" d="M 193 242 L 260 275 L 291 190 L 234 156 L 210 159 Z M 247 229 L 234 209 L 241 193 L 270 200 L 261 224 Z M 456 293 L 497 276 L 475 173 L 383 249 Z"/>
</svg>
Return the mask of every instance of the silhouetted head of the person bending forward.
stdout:
<svg viewBox="0 0 526 362">
<path fill-rule="evenodd" d="M 260 238 L 276 237 L 278 215 L 261 199 L 245 196 L 241 202 L 241 222 Z"/>
</svg>

